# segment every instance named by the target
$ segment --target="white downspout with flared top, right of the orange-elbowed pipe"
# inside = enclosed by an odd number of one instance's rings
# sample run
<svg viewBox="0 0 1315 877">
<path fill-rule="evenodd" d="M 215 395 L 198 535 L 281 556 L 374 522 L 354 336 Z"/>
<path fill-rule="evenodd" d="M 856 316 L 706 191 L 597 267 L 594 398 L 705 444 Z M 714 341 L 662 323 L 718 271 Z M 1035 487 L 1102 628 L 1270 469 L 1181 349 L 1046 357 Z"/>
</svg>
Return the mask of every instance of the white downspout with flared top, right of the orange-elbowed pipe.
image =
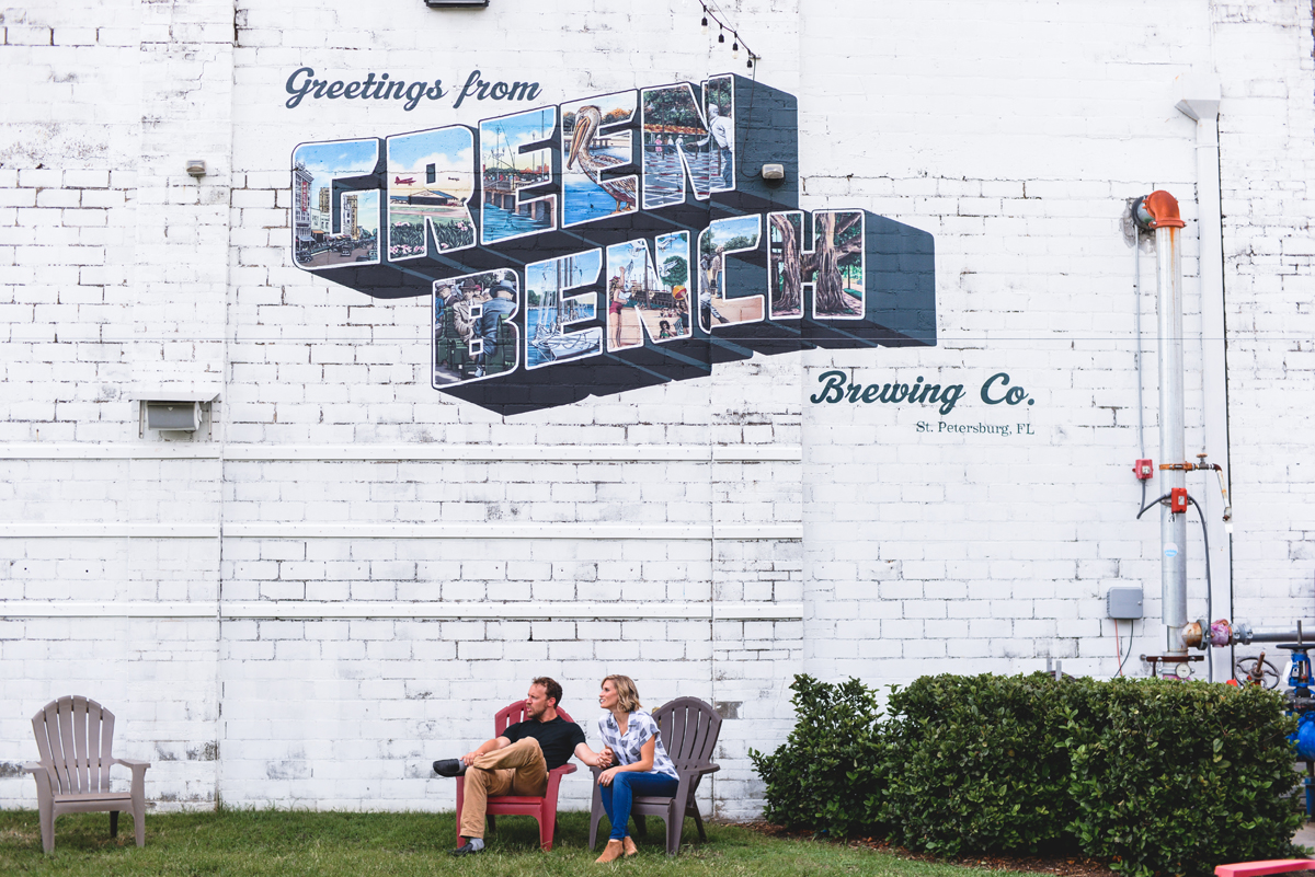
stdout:
<svg viewBox="0 0 1315 877">
<path fill-rule="evenodd" d="M 1228 372 L 1224 336 L 1224 257 L 1223 214 L 1219 188 L 1219 79 L 1214 75 L 1184 74 L 1174 83 L 1180 97 L 1176 109 L 1197 122 L 1197 235 L 1201 259 L 1201 366 L 1205 406 L 1203 450 L 1224 466 L 1223 482 L 1230 487 Z M 1169 461 L 1166 461 L 1169 462 Z M 1210 532 L 1210 570 L 1215 607 L 1232 607 L 1232 521 L 1226 520 L 1223 496 L 1201 490 L 1201 507 Z M 1223 613 L 1220 613 L 1223 614 Z M 1207 618 L 1207 624 L 1214 618 Z M 1232 667 L 1230 654 L 1228 666 Z"/>
</svg>

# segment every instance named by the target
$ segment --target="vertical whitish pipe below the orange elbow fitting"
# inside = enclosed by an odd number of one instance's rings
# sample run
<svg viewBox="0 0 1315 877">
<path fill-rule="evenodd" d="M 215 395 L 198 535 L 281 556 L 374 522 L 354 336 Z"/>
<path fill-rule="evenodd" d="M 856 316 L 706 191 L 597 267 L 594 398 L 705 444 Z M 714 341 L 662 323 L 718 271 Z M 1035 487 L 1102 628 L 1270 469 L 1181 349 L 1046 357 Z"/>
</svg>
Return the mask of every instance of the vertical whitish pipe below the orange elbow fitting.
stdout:
<svg viewBox="0 0 1315 877">
<path fill-rule="evenodd" d="M 1160 351 L 1160 462 L 1184 462 L 1182 395 L 1182 251 L 1178 228 L 1155 230 L 1156 315 Z M 1160 470 L 1160 494 L 1186 486 L 1186 473 Z M 1160 599 L 1170 654 L 1184 654 L 1182 626 L 1187 624 L 1187 516 L 1160 507 Z"/>
</svg>

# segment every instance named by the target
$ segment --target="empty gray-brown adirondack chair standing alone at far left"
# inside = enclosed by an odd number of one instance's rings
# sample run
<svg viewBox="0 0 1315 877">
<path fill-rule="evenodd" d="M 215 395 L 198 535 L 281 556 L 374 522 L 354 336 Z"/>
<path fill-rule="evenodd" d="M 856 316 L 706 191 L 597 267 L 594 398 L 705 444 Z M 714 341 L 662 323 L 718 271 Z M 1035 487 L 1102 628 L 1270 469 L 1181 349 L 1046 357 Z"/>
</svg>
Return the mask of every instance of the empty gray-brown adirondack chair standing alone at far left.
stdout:
<svg viewBox="0 0 1315 877">
<path fill-rule="evenodd" d="M 60 697 L 32 717 L 39 761 L 22 769 L 37 781 L 41 845 L 55 849 L 55 817 L 64 813 L 109 811 L 109 835 L 118 834 L 118 813 L 133 814 L 137 845 L 146 845 L 146 768 L 149 761 L 116 759 L 114 714 L 87 697 Z M 130 792 L 109 790 L 109 768 L 133 772 Z"/>
</svg>

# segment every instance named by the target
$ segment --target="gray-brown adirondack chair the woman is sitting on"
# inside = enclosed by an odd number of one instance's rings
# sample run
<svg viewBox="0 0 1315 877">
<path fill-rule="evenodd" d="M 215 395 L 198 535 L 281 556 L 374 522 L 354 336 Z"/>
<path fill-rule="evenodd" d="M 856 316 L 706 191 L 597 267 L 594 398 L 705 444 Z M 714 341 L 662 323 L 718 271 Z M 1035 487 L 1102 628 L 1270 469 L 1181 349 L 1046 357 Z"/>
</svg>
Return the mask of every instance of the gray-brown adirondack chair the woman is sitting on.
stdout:
<svg viewBox="0 0 1315 877">
<path fill-rule="evenodd" d="M 698 826 L 698 839 L 707 840 L 694 793 L 705 775 L 722 769 L 719 764 L 713 764 L 717 737 L 722 733 L 722 717 L 710 704 L 697 697 L 677 697 L 655 709 L 654 721 L 658 722 L 661 744 L 676 765 L 676 773 L 680 775 L 680 784 L 676 786 L 676 794 L 669 798 L 635 796 L 630 814 L 635 818 L 640 835 L 648 830 L 644 817 L 659 817 L 667 824 L 667 855 L 675 856 L 680 852 L 680 834 L 686 817 L 693 817 L 694 824 Z M 589 849 L 593 849 L 598 842 L 598 822 L 602 821 L 605 811 L 602 793 L 598 790 L 598 775 L 602 769 L 590 769 L 593 807 L 589 813 Z"/>
</svg>

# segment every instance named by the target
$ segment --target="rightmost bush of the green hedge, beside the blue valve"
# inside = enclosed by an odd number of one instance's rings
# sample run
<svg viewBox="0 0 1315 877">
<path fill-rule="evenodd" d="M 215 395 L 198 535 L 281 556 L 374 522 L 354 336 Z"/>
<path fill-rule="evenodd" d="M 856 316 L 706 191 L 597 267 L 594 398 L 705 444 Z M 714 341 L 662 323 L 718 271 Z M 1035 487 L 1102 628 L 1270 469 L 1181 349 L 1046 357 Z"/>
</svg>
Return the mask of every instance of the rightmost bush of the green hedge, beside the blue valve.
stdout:
<svg viewBox="0 0 1315 877">
<path fill-rule="evenodd" d="M 1255 687 L 1103 683 L 1101 721 L 1070 722 L 1073 832 L 1115 870 L 1206 873 L 1282 859 L 1301 814 L 1276 692 Z"/>
</svg>

